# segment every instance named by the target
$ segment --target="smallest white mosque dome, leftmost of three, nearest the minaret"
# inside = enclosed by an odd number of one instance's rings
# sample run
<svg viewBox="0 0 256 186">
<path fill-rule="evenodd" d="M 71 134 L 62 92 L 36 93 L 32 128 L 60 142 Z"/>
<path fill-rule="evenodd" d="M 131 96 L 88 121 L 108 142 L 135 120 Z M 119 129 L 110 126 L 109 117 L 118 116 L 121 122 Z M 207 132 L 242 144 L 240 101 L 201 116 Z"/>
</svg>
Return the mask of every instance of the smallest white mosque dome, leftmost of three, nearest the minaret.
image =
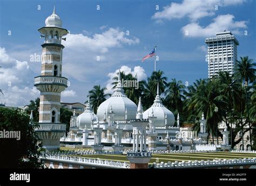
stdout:
<svg viewBox="0 0 256 186">
<path fill-rule="evenodd" d="M 91 104 L 90 104 L 90 96 L 88 98 L 88 103 L 86 104 L 86 108 L 82 114 L 80 114 L 78 117 L 78 124 L 79 128 L 90 128 L 91 127 L 91 121 L 96 120 L 97 117 L 95 113 L 93 113 Z"/>
</svg>

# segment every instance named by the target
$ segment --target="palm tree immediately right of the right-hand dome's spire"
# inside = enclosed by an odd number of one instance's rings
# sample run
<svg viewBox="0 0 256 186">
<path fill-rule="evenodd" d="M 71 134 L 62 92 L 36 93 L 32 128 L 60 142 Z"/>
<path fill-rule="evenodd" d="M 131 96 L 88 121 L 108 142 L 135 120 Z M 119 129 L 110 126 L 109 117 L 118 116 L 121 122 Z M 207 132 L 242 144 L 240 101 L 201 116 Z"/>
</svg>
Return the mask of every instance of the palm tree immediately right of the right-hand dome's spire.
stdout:
<svg viewBox="0 0 256 186">
<path fill-rule="evenodd" d="M 165 90 L 165 95 L 167 95 L 164 101 L 165 106 L 181 113 L 183 110 L 183 101 L 185 100 L 184 92 L 185 85 L 182 84 L 182 81 L 177 81 L 176 78 L 172 79 L 172 81 L 167 84 Z"/>
</svg>

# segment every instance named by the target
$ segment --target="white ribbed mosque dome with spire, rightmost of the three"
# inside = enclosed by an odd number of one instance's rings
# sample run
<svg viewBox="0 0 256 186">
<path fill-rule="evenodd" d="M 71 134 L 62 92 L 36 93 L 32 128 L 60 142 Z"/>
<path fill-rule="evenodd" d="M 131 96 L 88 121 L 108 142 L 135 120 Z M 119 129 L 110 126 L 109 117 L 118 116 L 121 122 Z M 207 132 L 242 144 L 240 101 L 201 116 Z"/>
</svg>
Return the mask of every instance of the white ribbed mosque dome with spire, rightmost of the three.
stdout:
<svg viewBox="0 0 256 186">
<path fill-rule="evenodd" d="M 157 84 L 158 86 L 158 84 Z M 159 87 L 157 87 L 157 96 L 154 99 L 154 103 L 151 108 L 147 109 L 143 112 L 143 119 L 147 119 L 153 113 L 154 117 L 157 117 L 154 120 L 155 126 L 165 126 L 165 117 L 167 117 L 167 126 L 174 125 L 174 115 L 168 110 L 162 103 L 161 98 L 159 96 Z"/>
</svg>

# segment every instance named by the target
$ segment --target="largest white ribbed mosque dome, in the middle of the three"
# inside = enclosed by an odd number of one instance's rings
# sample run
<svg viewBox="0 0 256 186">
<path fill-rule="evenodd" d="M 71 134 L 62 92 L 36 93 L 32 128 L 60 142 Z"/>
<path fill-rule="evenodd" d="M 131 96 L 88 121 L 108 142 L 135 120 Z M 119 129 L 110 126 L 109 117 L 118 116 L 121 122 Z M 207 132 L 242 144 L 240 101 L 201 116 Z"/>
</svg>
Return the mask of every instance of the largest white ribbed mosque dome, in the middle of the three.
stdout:
<svg viewBox="0 0 256 186">
<path fill-rule="evenodd" d="M 137 105 L 124 94 L 120 80 L 120 70 L 116 89 L 114 89 L 114 93 L 109 99 L 99 105 L 97 117 L 99 120 L 107 119 L 111 110 L 114 113 L 113 120 L 130 120 L 136 118 Z"/>
</svg>

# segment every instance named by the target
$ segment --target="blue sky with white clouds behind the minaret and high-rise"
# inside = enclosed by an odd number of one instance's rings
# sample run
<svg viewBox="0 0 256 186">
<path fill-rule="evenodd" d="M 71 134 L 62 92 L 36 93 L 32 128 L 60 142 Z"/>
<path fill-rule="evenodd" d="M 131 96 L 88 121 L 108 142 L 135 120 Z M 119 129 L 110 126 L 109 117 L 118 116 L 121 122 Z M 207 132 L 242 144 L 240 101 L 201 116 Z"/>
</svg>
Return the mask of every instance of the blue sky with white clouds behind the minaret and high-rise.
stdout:
<svg viewBox="0 0 256 186">
<path fill-rule="evenodd" d="M 96 84 L 111 92 L 111 78 L 120 67 L 138 74 L 140 80 L 150 76 L 153 59 L 140 61 L 154 44 L 159 56 L 157 70 L 163 70 L 169 80 L 176 78 L 188 84 L 207 78 L 204 40 L 216 31 L 232 31 L 240 42 L 238 56 L 256 58 L 256 3 L 251 0 L 1 0 L 0 88 L 5 95 L 0 96 L 0 102 L 23 106 L 39 96 L 33 77 L 39 75 L 41 65 L 31 62 L 30 56 L 42 52 L 43 39 L 37 30 L 45 26 L 53 5 L 63 27 L 71 33 L 63 42 L 63 76 L 70 81 L 62 95 L 64 102 L 84 102 Z M 97 5 L 100 10 L 96 10 Z"/>
</svg>

